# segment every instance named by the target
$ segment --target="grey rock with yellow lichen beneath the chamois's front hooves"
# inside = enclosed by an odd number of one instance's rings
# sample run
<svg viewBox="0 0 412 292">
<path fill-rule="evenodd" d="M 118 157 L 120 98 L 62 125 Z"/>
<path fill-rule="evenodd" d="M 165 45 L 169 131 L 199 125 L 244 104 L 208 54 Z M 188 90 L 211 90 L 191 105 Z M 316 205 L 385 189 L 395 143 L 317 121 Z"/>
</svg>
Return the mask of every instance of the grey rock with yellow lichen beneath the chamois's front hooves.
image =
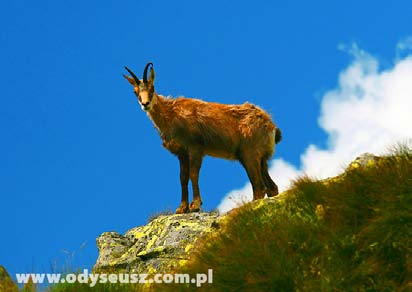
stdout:
<svg viewBox="0 0 412 292">
<path fill-rule="evenodd" d="M 184 264 L 200 236 L 219 227 L 216 213 L 162 215 L 124 235 L 104 232 L 96 239 L 94 272 L 166 273 Z"/>
</svg>

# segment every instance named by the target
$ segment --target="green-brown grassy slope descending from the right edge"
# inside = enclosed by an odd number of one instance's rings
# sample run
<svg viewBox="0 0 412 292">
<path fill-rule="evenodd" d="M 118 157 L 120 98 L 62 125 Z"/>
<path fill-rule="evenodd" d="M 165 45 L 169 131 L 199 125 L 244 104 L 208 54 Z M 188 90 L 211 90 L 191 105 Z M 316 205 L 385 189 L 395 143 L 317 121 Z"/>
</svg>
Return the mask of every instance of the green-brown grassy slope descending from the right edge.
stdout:
<svg viewBox="0 0 412 292">
<path fill-rule="evenodd" d="M 284 199 L 233 211 L 176 273 L 206 273 L 206 291 L 412 290 L 412 154 L 327 182 L 302 178 Z M 142 286 L 98 285 L 98 291 Z M 155 291 L 195 290 L 156 285 Z M 192 288 L 192 289 L 190 289 Z M 52 291 L 96 291 L 57 285 Z"/>
</svg>

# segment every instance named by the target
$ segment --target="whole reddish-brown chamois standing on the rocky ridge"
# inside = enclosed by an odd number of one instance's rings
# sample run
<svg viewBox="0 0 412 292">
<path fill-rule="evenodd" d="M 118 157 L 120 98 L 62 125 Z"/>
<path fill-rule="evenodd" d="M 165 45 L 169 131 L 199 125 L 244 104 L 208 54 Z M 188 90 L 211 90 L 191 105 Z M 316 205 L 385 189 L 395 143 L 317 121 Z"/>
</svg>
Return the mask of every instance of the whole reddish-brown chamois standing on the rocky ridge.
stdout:
<svg viewBox="0 0 412 292">
<path fill-rule="evenodd" d="M 247 102 L 226 105 L 193 98 L 164 97 L 155 91 L 152 63 L 147 63 L 144 68 L 143 80 L 139 80 L 128 67 L 125 69 L 132 77 L 123 76 L 133 86 L 140 106 L 157 128 L 163 146 L 179 159 L 182 199 L 177 214 L 200 210 L 202 198 L 198 180 L 205 155 L 238 160 L 252 183 L 254 200 L 265 194 L 269 197 L 278 194 L 278 187 L 268 173 L 268 159 L 282 135 L 269 114 Z M 190 205 L 189 179 L 193 191 Z"/>
</svg>

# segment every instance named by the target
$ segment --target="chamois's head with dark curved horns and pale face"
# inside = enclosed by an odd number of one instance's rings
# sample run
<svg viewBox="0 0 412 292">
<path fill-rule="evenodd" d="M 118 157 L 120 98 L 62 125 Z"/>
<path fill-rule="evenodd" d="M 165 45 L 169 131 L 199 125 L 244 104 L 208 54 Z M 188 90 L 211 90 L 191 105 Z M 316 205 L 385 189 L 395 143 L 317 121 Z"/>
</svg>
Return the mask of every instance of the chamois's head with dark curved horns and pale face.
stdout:
<svg viewBox="0 0 412 292">
<path fill-rule="evenodd" d="M 150 67 L 150 76 L 147 79 L 147 70 Z M 155 73 L 153 69 L 152 63 L 147 63 L 146 67 L 143 71 L 143 80 L 139 80 L 137 76 L 125 66 L 126 70 L 132 75 L 132 77 L 128 75 L 123 75 L 124 78 L 129 81 L 131 85 L 134 87 L 134 93 L 136 94 L 137 98 L 139 99 L 140 106 L 144 111 L 150 111 L 153 106 L 156 104 L 156 94 L 154 94 L 154 79 Z"/>
</svg>

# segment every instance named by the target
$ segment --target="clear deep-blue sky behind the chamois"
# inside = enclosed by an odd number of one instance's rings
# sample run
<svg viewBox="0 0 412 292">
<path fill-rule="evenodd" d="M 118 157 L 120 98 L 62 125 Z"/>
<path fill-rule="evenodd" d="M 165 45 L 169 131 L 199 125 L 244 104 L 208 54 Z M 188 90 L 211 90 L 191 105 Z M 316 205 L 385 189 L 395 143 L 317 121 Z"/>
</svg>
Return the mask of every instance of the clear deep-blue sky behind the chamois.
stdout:
<svg viewBox="0 0 412 292">
<path fill-rule="evenodd" d="M 412 3 L 385 2 L 3 1 L 0 264 L 91 267 L 99 234 L 178 206 L 178 161 L 124 65 L 140 76 L 152 61 L 160 94 L 258 104 L 283 131 L 276 158 L 298 169 L 308 145 L 330 147 L 318 121 L 342 72 L 362 52 L 391 70 L 410 49 Z M 204 208 L 246 181 L 205 159 Z"/>
</svg>

